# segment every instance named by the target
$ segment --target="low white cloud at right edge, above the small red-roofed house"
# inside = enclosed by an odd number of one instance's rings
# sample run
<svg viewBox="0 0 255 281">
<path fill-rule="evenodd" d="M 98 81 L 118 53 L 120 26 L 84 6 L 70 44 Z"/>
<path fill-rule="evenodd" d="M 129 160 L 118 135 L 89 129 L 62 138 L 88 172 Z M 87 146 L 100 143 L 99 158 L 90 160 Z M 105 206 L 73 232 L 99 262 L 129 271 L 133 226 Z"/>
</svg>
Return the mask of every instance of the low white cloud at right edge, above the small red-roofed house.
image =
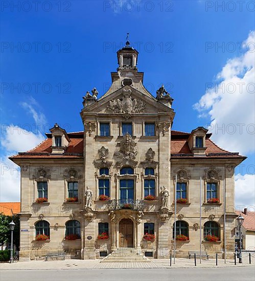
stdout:
<svg viewBox="0 0 255 281">
<path fill-rule="evenodd" d="M 255 205 L 255 175 L 236 175 L 235 176 L 235 198 L 236 208 L 238 206 L 253 206 Z"/>
</svg>

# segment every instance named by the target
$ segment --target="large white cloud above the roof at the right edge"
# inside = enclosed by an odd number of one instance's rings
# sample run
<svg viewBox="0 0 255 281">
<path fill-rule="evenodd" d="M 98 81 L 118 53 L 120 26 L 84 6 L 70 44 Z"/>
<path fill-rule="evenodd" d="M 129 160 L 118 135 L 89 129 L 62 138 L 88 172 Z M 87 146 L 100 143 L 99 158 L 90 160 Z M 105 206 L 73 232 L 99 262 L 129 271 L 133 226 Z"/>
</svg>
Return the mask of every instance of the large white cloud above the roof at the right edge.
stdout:
<svg viewBox="0 0 255 281">
<path fill-rule="evenodd" d="M 250 32 L 244 42 L 246 52 L 226 62 L 215 83 L 207 84 L 208 90 L 194 105 L 200 117 L 210 117 L 212 139 L 243 155 L 255 151 L 254 34 Z"/>
</svg>

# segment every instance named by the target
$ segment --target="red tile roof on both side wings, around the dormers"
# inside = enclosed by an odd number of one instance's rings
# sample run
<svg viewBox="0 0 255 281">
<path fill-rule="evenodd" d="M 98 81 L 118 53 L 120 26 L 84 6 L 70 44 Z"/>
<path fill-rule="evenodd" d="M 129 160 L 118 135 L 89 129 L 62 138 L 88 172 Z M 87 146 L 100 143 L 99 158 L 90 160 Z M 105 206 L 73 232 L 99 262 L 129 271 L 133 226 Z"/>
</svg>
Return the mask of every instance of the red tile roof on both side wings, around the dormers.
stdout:
<svg viewBox="0 0 255 281">
<path fill-rule="evenodd" d="M 172 157 L 193 157 L 193 154 L 188 145 L 188 138 L 190 133 L 171 131 L 171 154 Z M 52 151 L 52 135 L 46 134 L 48 138 L 43 140 L 37 147 L 19 153 L 18 155 L 10 157 L 15 158 L 82 158 L 83 157 L 83 132 L 67 133 L 71 139 L 66 151 L 63 154 L 51 154 Z M 238 153 L 231 153 L 227 150 L 218 147 L 211 139 L 211 134 L 206 134 L 205 154 L 208 157 L 243 157 Z"/>
</svg>

